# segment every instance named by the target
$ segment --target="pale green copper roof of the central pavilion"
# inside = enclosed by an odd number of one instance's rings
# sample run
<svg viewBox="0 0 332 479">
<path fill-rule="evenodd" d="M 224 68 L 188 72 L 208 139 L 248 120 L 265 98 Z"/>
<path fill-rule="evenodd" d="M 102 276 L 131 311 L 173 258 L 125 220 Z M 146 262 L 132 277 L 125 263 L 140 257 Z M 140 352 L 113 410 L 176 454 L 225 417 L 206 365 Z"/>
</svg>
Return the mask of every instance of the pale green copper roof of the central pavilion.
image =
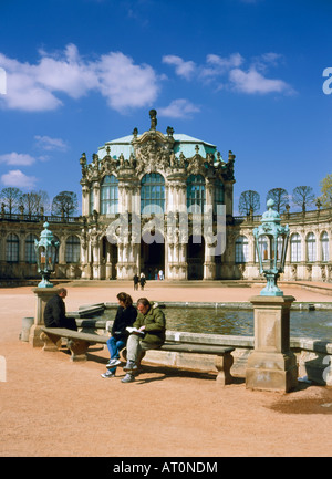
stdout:
<svg viewBox="0 0 332 479">
<path fill-rule="evenodd" d="M 175 139 L 174 144 L 174 153 L 178 157 L 180 153 L 185 155 L 186 158 L 190 158 L 196 154 L 196 145 L 198 145 L 198 153 L 204 158 L 207 153 L 216 153 L 217 147 L 210 143 L 204 142 L 203 139 L 194 138 L 193 136 L 185 134 L 175 134 L 173 135 Z M 113 158 L 118 158 L 121 154 L 127 159 L 131 154 L 134 153 L 134 148 L 131 144 L 133 140 L 133 135 L 123 136 L 117 139 L 112 139 L 111 142 L 106 142 L 104 146 L 98 148 L 98 157 L 102 159 L 106 155 L 106 147 L 111 147 L 111 156 Z"/>
</svg>

